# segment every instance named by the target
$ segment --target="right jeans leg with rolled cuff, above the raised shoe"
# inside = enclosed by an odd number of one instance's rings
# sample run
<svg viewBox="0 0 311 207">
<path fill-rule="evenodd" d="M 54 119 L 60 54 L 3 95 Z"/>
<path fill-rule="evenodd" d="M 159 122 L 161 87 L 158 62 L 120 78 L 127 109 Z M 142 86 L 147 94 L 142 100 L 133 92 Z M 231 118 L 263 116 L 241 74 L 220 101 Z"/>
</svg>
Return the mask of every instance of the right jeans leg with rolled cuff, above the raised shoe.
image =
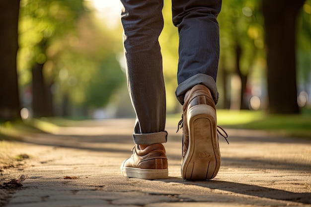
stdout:
<svg viewBox="0 0 311 207">
<path fill-rule="evenodd" d="M 179 32 L 176 96 L 181 104 L 186 91 L 197 84 L 208 87 L 218 101 L 219 62 L 217 15 L 222 0 L 172 0 L 173 23 Z"/>
</svg>

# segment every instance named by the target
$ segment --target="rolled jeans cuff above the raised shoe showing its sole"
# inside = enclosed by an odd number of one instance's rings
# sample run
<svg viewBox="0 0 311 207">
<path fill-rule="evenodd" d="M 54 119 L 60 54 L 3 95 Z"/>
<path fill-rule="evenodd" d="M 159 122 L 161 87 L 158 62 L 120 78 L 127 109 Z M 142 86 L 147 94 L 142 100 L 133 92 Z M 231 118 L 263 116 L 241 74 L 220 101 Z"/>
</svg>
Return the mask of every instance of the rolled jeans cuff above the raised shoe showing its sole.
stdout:
<svg viewBox="0 0 311 207">
<path fill-rule="evenodd" d="M 177 86 L 175 95 L 181 105 L 184 104 L 186 92 L 190 90 L 193 86 L 199 84 L 205 85 L 208 89 L 210 89 L 214 102 L 215 104 L 217 104 L 219 95 L 214 78 L 210 75 L 199 73 L 194 76 L 191 76 L 190 78 L 186 79 Z"/>
</svg>

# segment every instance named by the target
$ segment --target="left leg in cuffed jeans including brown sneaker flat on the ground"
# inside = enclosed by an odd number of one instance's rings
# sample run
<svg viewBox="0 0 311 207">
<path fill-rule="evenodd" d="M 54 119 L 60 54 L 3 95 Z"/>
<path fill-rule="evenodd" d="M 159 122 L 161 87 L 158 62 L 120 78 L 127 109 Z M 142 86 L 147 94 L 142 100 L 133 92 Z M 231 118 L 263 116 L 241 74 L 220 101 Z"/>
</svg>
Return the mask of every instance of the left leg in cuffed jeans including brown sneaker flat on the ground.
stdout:
<svg viewBox="0 0 311 207">
<path fill-rule="evenodd" d="M 158 36 L 163 28 L 163 0 L 121 0 L 128 89 L 136 112 L 133 155 L 122 175 L 167 177 L 165 87 Z M 152 159 L 151 159 L 152 158 Z"/>
</svg>

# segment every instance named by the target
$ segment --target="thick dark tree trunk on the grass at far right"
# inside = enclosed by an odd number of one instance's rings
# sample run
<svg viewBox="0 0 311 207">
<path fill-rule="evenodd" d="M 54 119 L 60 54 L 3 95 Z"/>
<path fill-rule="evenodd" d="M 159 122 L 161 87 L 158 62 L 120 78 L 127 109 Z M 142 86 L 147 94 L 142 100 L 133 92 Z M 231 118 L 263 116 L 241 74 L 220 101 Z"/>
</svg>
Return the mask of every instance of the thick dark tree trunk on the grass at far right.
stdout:
<svg viewBox="0 0 311 207">
<path fill-rule="evenodd" d="M 262 0 L 267 49 L 268 112 L 298 114 L 296 18 L 305 0 Z"/>
</svg>

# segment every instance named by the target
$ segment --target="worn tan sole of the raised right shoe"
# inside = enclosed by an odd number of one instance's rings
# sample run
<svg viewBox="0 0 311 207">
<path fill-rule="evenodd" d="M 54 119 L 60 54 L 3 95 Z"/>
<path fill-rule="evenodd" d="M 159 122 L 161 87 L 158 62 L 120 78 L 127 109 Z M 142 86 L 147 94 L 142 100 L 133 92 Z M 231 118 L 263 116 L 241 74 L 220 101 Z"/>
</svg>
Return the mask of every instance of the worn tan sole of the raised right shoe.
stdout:
<svg viewBox="0 0 311 207">
<path fill-rule="evenodd" d="M 182 161 L 184 180 L 214 178 L 220 168 L 216 111 L 209 105 L 196 105 L 187 112 L 189 146 Z"/>
</svg>

